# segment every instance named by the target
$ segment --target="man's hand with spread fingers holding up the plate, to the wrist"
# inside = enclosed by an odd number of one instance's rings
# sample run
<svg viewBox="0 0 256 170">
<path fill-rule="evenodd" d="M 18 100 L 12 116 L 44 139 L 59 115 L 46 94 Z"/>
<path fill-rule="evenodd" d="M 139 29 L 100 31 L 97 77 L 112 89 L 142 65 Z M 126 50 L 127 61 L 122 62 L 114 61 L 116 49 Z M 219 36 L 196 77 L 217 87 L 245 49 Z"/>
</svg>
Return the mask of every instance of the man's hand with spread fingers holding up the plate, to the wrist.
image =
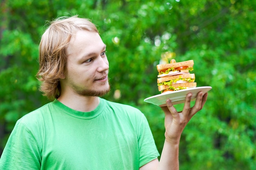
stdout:
<svg viewBox="0 0 256 170">
<path fill-rule="evenodd" d="M 167 106 L 161 107 L 165 113 L 164 126 L 166 129 L 166 142 L 170 142 L 172 144 L 179 144 L 180 136 L 186 124 L 195 115 L 195 113 L 203 108 L 204 103 L 207 100 L 208 94 L 206 93 L 204 94 L 204 96 L 202 94 L 202 92 L 198 93 L 195 105 L 193 107 L 190 107 L 192 94 L 187 94 L 183 111 L 180 112 L 177 112 L 170 99 L 166 100 Z"/>
</svg>

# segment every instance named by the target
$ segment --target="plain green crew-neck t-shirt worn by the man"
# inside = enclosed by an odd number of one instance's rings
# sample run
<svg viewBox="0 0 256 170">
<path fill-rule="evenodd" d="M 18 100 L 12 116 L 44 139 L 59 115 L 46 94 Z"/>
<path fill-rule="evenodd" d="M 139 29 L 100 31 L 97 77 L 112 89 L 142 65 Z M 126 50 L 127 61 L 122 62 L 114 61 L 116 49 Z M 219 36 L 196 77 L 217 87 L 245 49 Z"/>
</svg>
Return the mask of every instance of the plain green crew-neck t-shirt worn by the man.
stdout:
<svg viewBox="0 0 256 170">
<path fill-rule="evenodd" d="M 54 100 L 18 120 L 0 169 L 138 170 L 158 156 L 138 109 L 100 98 L 80 112 Z"/>
</svg>

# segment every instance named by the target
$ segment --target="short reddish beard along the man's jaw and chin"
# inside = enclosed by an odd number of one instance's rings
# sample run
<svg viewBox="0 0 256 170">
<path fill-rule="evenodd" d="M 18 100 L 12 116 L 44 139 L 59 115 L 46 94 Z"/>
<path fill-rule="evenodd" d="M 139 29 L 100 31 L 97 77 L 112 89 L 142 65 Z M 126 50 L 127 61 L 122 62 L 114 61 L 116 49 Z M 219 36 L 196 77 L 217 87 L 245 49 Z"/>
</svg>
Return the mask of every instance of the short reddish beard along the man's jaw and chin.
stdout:
<svg viewBox="0 0 256 170">
<path fill-rule="evenodd" d="M 73 88 L 73 90 L 79 96 L 98 96 L 98 97 L 101 97 L 101 96 L 104 96 L 105 94 L 107 94 L 108 92 L 110 92 L 109 80 L 108 80 L 107 83 L 108 83 L 108 87 L 106 87 L 105 89 L 77 89 L 77 88 Z"/>
</svg>

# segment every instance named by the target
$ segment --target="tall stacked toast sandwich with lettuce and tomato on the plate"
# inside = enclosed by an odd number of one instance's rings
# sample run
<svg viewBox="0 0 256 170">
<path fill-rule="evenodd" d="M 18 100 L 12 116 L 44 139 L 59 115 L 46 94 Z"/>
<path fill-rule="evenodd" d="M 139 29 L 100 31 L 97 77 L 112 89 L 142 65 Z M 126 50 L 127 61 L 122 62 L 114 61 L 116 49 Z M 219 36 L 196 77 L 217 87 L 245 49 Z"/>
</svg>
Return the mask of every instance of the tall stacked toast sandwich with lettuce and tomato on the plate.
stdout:
<svg viewBox="0 0 256 170">
<path fill-rule="evenodd" d="M 195 74 L 189 73 L 193 70 L 193 65 L 193 60 L 176 63 L 175 59 L 172 59 L 169 64 L 157 65 L 159 92 L 163 93 L 196 87 Z"/>
</svg>

